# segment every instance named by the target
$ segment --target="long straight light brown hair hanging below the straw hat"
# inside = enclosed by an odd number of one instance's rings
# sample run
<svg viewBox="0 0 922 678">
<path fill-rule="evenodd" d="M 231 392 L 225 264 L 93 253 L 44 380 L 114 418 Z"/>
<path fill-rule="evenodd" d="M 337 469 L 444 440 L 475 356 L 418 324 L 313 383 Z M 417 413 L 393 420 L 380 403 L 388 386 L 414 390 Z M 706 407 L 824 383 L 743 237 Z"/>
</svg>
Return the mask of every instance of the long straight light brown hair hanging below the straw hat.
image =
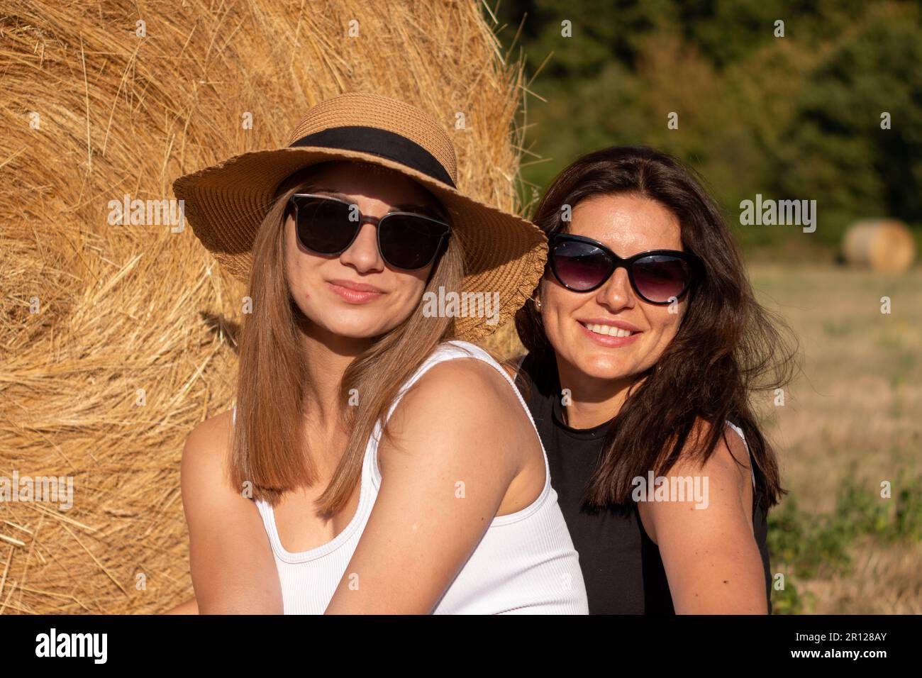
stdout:
<svg viewBox="0 0 922 678">
<path fill-rule="evenodd" d="M 312 168 L 308 168 L 310 171 Z M 307 359 L 299 341 L 301 310 L 291 298 L 285 271 L 285 218 L 290 196 L 305 172 L 283 182 L 260 225 L 253 247 L 250 297 L 253 313 L 242 327 L 237 414 L 231 434 L 231 484 L 252 483 L 252 496 L 276 506 L 282 494 L 318 481 L 312 450 L 303 435 Z M 464 276 L 460 239 L 453 233 L 436 260 L 425 291 L 459 290 Z M 349 439 L 333 477 L 317 499 L 323 514 L 336 513 L 361 480 L 361 465 L 375 423 L 400 387 L 436 346 L 450 338 L 451 318 L 426 317 L 422 297 L 397 327 L 377 338 L 346 370 L 340 385 L 340 417 Z M 349 406 L 349 393 L 361 394 Z M 386 435 L 388 432 L 384 430 Z"/>
</svg>

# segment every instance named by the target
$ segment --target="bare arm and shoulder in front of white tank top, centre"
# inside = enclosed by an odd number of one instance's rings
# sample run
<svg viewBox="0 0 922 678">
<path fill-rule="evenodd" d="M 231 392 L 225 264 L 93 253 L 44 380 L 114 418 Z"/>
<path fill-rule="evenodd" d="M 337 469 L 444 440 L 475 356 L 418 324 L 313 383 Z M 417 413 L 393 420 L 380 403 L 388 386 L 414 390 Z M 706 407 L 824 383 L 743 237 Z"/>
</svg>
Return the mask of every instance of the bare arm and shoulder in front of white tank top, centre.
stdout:
<svg viewBox="0 0 922 678">
<path fill-rule="evenodd" d="M 379 449 L 381 489 L 326 613 L 431 613 L 521 459 L 541 454 L 512 388 L 477 360 L 432 367 L 389 425 L 397 445 Z"/>
</svg>

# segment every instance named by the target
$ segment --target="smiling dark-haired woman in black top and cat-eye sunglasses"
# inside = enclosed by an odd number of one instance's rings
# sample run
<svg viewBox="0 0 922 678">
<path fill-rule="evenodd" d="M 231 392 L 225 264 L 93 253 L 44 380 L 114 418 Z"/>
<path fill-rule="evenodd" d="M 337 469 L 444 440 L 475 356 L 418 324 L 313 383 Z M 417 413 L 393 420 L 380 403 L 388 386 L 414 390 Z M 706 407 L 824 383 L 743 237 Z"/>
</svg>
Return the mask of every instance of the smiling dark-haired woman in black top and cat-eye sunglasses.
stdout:
<svg viewBox="0 0 922 678">
<path fill-rule="evenodd" d="M 690 170 L 653 149 L 573 162 L 535 216 L 545 276 L 517 365 L 590 613 L 770 613 L 777 460 L 751 409 L 785 327 Z"/>
</svg>

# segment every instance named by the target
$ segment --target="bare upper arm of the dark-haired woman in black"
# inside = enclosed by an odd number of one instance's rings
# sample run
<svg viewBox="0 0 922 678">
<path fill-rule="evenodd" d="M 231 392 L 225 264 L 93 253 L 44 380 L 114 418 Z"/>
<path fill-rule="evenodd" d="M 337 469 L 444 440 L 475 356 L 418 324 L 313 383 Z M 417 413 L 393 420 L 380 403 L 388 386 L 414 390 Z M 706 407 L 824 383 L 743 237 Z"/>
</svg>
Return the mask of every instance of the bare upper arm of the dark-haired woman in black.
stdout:
<svg viewBox="0 0 922 678">
<path fill-rule="evenodd" d="M 703 468 L 680 460 L 669 476 L 707 478 L 707 507 L 651 502 L 651 537 L 677 613 L 765 614 L 765 575 L 752 533 L 749 454 L 739 435 L 725 436 Z M 734 461 L 739 459 L 742 466 Z"/>
</svg>

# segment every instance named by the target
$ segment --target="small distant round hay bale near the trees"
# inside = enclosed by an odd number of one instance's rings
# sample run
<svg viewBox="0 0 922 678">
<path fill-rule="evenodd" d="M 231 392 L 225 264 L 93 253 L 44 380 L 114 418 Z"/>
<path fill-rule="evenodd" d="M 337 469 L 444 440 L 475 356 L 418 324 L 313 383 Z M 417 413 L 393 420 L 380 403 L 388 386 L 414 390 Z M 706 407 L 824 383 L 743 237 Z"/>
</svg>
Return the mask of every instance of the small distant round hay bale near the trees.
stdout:
<svg viewBox="0 0 922 678">
<path fill-rule="evenodd" d="M 903 221 L 865 219 L 845 230 L 842 253 L 851 266 L 903 273 L 916 258 L 916 241 Z"/>
</svg>

